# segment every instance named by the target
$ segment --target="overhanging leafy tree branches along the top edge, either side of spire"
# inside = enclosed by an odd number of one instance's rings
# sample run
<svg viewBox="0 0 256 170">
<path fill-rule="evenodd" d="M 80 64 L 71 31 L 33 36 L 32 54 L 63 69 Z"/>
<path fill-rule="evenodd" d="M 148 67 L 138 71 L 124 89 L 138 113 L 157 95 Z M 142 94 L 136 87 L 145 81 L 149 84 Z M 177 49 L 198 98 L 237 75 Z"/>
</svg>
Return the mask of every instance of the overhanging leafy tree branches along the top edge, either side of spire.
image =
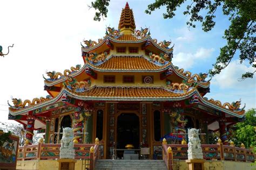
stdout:
<svg viewBox="0 0 256 170">
<path fill-rule="evenodd" d="M 94 20 L 100 21 L 100 17 L 107 17 L 107 6 L 109 6 L 110 0 L 96 0 L 90 8 L 98 10 L 96 12 Z M 175 16 L 175 11 L 185 0 L 156 0 L 147 6 L 146 13 L 151 13 L 160 9 L 162 6 L 166 6 L 166 13 L 163 13 L 165 19 Z M 219 74 L 222 69 L 228 66 L 235 53 L 239 53 L 240 63 L 247 60 L 253 68 L 254 56 L 255 56 L 255 18 L 256 18 L 256 1 L 255 0 L 214 0 L 214 1 L 190 1 L 186 10 L 183 12 L 185 16 L 189 16 L 189 20 L 186 23 L 189 27 L 196 27 L 197 22 L 200 22 L 202 29 L 205 32 L 211 31 L 215 26 L 214 18 L 216 17 L 215 11 L 222 9 L 223 15 L 228 16 L 231 22 L 228 29 L 225 30 L 223 38 L 226 39 L 227 44 L 220 48 L 220 54 L 213 64 L 213 68 L 209 70 L 211 76 Z M 205 13 L 203 15 L 203 13 Z M 248 77 L 252 78 L 254 72 L 246 72 L 242 74 L 242 79 Z"/>
</svg>

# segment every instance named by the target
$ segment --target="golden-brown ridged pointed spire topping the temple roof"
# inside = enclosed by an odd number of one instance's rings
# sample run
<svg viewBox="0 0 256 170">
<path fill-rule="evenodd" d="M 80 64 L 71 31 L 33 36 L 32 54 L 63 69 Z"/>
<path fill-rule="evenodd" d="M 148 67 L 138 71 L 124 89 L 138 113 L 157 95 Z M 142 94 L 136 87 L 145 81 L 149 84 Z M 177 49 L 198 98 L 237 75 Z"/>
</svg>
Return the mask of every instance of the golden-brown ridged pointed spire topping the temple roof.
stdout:
<svg viewBox="0 0 256 170">
<path fill-rule="evenodd" d="M 123 8 L 121 13 L 118 29 L 120 33 L 131 34 L 134 33 L 135 28 L 132 9 L 130 9 L 128 2 L 126 2 L 125 8 Z"/>
</svg>

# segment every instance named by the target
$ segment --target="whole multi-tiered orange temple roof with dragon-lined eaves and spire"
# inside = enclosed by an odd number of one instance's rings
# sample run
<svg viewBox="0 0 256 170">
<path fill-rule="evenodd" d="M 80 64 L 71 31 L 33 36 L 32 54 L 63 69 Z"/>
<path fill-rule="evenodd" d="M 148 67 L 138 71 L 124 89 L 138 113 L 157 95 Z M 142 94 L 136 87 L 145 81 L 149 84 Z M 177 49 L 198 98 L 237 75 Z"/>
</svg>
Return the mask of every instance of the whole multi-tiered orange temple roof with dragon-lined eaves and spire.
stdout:
<svg viewBox="0 0 256 170">
<path fill-rule="evenodd" d="M 198 103 L 206 108 L 223 112 L 230 117 L 241 118 L 244 109 L 240 101 L 221 104 L 203 96 L 209 91 L 207 74 L 191 74 L 172 64 L 173 46 L 170 41 L 152 39 L 149 29 L 136 30 L 133 12 L 128 3 L 122 10 L 118 30 L 106 28 L 106 35 L 97 42 L 85 40 L 82 45 L 84 66 L 77 65 L 60 72 L 48 72 L 44 77 L 45 90 L 50 97 L 35 98 L 33 101 L 13 99 L 10 104 L 10 119 L 25 124 L 28 113 L 42 114 L 44 118 L 53 109 L 70 103 L 67 98 L 83 101 L 184 101 L 185 105 Z M 135 47 L 138 53 L 118 53 L 116 47 Z M 109 84 L 102 83 L 105 73 L 154 74 L 156 83 Z M 147 77 L 150 80 L 150 76 Z M 122 85 L 122 87 L 120 86 Z M 74 101 L 74 100 L 71 100 Z M 73 103 L 74 104 L 74 103 Z M 18 117 L 19 116 L 19 117 Z"/>
</svg>

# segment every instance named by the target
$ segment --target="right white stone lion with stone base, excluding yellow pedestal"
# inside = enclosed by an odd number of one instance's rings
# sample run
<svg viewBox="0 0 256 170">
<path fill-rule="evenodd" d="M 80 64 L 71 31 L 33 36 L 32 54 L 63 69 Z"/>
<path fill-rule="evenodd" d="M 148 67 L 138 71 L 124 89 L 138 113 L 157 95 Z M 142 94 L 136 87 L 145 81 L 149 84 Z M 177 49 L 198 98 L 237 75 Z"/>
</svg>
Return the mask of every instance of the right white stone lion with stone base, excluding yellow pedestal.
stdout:
<svg viewBox="0 0 256 170">
<path fill-rule="evenodd" d="M 198 129 L 188 130 L 188 159 L 203 159 L 203 152 L 201 148 L 201 141 L 199 139 Z"/>
</svg>

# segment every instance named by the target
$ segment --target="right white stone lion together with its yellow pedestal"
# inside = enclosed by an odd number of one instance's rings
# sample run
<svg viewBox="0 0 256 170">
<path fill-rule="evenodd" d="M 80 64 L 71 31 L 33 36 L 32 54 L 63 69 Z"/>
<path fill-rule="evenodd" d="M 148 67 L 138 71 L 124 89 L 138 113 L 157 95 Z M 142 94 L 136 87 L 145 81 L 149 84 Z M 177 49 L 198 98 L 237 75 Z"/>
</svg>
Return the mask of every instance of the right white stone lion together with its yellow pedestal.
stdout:
<svg viewBox="0 0 256 170">
<path fill-rule="evenodd" d="M 204 158 L 201 148 L 201 141 L 199 139 L 199 132 L 197 129 L 188 130 L 188 150 L 186 163 L 189 170 L 201 169 L 204 170 Z"/>
</svg>

